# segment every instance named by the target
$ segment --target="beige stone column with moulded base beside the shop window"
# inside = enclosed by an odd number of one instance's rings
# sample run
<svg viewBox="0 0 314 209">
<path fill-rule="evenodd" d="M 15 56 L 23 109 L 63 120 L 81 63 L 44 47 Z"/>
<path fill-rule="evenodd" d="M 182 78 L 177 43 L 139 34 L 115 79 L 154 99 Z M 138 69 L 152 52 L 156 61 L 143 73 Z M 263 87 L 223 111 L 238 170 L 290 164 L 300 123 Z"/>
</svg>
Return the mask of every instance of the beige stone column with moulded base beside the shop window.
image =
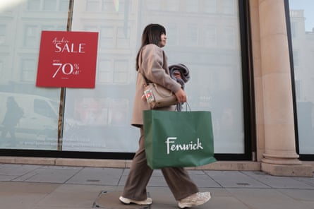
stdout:
<svg viewBox="0 0 314 209">
<path fill-rule="evenodd" d="M 298 160 L 284 0 L 259 0 L 260 52 L 265 119 L 262 170 L 279 176 L 310 176 Z"/>
</svg>

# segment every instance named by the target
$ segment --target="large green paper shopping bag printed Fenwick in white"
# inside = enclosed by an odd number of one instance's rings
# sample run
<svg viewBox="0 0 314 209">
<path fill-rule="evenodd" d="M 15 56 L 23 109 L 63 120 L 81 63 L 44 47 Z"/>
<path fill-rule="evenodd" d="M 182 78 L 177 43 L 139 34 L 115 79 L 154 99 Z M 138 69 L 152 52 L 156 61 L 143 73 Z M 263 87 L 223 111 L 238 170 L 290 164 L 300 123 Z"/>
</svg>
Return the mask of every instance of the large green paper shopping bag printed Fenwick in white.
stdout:
<svg viewBox="0 0 314 209">
<path fill-rule="evenodd" d="M 150 168 L 197 167 L 216 161 L 211 112 L 145 110 L 143 120 Z"/>
</svg>

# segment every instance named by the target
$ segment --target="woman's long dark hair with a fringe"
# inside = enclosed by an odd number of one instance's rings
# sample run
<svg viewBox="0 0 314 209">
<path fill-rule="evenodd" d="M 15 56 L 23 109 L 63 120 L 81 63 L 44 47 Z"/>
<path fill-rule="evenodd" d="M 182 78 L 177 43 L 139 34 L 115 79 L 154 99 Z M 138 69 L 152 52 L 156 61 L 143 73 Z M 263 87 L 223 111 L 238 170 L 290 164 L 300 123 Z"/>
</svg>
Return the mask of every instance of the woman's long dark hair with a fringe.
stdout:
<svg viewBox="0 0 314 209">
<path fill-rule="evenodd" d="M 166 29 L 164 26 L 159 24 L 150 24 L 145 27 L 142 35 L 142 43 L 140 49 L 138 50 L 138 55 L 136 56 L 136 66 L 135 69 L 138 71 L 138 58 L 140 56 L 140 50 L 147 44 L 155 44 L 159 47 L 159 42 L 161 41 L 160 36 L 164 33 L 166 35 Z"/>
</svg>

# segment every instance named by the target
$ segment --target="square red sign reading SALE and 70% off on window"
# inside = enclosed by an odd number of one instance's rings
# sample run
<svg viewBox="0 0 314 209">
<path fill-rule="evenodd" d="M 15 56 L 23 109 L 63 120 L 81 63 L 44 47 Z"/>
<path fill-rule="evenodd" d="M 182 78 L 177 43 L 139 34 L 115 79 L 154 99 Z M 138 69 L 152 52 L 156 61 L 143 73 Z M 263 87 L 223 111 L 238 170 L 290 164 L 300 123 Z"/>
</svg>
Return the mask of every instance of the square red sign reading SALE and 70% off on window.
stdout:
<svg viewBox="0 0 314 209">
<path fill-rule="evenodd" d="M 95 88 L 98 32 L 42 31 L 36 85 Z"/>
</svg>

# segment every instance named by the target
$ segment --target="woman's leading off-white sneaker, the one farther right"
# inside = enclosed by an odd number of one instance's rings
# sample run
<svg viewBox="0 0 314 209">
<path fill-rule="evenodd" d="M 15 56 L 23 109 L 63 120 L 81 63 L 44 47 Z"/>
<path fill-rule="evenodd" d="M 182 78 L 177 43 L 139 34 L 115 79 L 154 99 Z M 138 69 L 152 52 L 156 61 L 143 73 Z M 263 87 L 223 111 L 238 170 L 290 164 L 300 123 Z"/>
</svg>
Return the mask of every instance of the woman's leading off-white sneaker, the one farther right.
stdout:
<svg viewBox="0 0 314 209">
<path fill-rule="evenodd" d="M 203 205 L 211 198 L 210 192 L 198 192 L 191 196 L 183 198 L 178 202 L 179 208 L 191 208 L 193 206 Z"/>
</svg>

